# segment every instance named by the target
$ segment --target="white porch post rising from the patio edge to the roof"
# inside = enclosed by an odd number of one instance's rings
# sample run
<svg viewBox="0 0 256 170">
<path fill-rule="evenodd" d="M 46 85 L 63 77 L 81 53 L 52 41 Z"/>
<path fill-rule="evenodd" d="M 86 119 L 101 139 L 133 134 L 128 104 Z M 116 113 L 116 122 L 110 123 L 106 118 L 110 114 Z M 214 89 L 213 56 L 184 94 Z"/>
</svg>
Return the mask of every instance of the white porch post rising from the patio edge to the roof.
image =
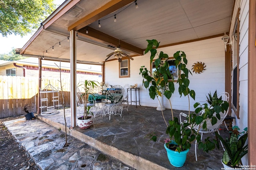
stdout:
<svg viewBox="0 0 256 170">
<path fill-rule="evenodd" d="M 70 31 L 70 109 L 71 127 L 76 127 L 76 31 Z"/>
</svg>

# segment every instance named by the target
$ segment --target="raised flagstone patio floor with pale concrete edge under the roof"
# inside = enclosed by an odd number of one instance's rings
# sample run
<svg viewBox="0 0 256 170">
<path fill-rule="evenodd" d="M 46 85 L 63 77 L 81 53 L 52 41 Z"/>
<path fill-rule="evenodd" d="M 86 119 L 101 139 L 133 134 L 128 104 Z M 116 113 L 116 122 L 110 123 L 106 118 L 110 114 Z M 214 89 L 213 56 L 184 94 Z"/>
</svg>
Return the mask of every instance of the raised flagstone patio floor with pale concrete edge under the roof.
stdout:
<svg viewBox="0 0 256 170">
<path fill-rule="evenodd" d="M 164 139 L 168 135 L 165 133 L 166 125 L 161 111 L 156 111 L 154 107 L 145 106 L 138 106 L 138 108 L 136 106 L 129 106 L 128 110 L 124 109 L 122 117 L 120 115 L 112 115 L 110 120 L 108 116 L 102 117 L 102 112 L 99 112 L 93 119 L 93 124 L 89 129 L 76 127 L 72 131 L 68 128 L 67 131 L 69 135 L 138 170 L 176 169 L 176 167 L 170 164 L 166 156 L 166 150 L 163 147 Z M 67 108 L 65 112 L 68 122 L 67 126 L 70 127 L 70 108 Z M 182 111 L 174 110 L 174 115 L 178 117 L 180 112 Z M 63 109 L 61 109 L 58 114 L 39 115 L 38 117 L 53 127 L 64 131 L 63 114 Z M 170 109 L 166 109 L 164 115 L 167 120 L 170 119 Z M 158 136 L 156 142 L 149 141 L 149 136 L 152 133 L 156 133 Z M 228 136 L 228 131 L 224 126 L 221 127 L 220 133 L 222 137 Z M 212 133 L 204 135 L 203 140 L 208 136 L 215 137 L 214 133 Z M 223 153 L 222 149 L 215 149 L 208 153 L 198 149 L 197 152 L 198 161 L 196 162 L 193 143 L 184 166 L 178 169 L 220 170 L 223 168 L 220 162 Z"/>
</svg>

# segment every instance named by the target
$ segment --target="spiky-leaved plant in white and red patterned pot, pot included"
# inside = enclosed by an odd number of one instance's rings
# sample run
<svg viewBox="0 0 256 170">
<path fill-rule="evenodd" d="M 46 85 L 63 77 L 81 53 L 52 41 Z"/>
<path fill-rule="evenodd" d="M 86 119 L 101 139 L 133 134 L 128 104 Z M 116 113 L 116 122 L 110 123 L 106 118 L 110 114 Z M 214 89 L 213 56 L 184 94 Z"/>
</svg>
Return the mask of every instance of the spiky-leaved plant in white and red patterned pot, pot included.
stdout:
<svg viewBox="0 0 256 170">
<path fill-rule="evenodd" d="M 94 87 L 98 86 L 98 82 L 94 80 L 84 80 L 84 82 L 79 83 L 78 87 L 82 86 L 84 89 L 84 93 L 80 96 L 83 101 L 83 115 L 81 117 L 78 117 L 77 119 L 77 125 L 81 129 L 88 129 L 90 128 L 90 125 L 92 124 L 92 111 L 90 109 L 93 107 L 93 104 L 90 104 L 88 101 L 88 96 L 94 95 Z"/>
</svg>

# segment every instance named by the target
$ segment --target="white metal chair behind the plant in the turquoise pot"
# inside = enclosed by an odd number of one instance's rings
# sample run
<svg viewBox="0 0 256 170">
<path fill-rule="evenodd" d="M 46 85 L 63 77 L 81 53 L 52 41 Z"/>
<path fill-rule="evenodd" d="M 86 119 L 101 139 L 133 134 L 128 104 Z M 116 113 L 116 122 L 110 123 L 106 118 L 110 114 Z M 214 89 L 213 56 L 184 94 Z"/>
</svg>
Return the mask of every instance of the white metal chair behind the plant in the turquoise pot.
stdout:
<svg viewBox="0 0 256 170">
<path fill-rule="evenodd" d="M 222 93 L 218 94 L 217 97 L 218 98 L 222 97 L 221 100 L 226 101 L 226 102 L 228 102 L 228 100 L 229 100 L 228 92 L 222 92 Z M 212 106 L 209 106 L 209 108 L 210 107 L 212 107 Z M 204 110 L 202 110 L 200 114 L 202 114 L 202 113 L 204 113 Z M 213 132 L 217 131 L 218 134 L 220 134 L 220 132 L 219 132 L 220 125 L 222 124 L 222 122 L 224 121 L 224 119 L 227 115 L 228 115 L 228 111 L 225 111 L 224 113 L 220 112 L 220 119 L 217 118 L 217 123 L 214 125 L 212 125 L 212 122 L 211 122 L 212 119 L 209 119 L 209 118 L 205 119 L 204 121 L 206 121 L 206 127 L 207 127 L 206 129 L 202 128 L 202 125 L 204 122 L 202 122 L 201 125 L 194 125 L 193 127 L 189 127 L 189 128 L 198 130 L 198 132 L 201 133 L 201 141 L 202 141 L 202 137 L 203 137 L 204 133 L 213 133 Z M 216 113 L 214 113 L 213 116 L 216 117 Z M 180 113 L 180 123 L 184 122 L 184 121 L 182 121 L 182 117 L 188 117 L 188 115 L 185 113 Z M 186 122 L 186 120 L 185 120 L 185 122 Z M 200 129 L 198 129 L 199 127 L 200 127 Z M 197 161 L 196 144 L 197 144 L 197 141 L 195 141 L 195 156 L 196 156 L 196 161 Z M 220 141 L 220 144 L 222 145 L 223 150 L 225 150 L 221 141 Z"/>
</svg>

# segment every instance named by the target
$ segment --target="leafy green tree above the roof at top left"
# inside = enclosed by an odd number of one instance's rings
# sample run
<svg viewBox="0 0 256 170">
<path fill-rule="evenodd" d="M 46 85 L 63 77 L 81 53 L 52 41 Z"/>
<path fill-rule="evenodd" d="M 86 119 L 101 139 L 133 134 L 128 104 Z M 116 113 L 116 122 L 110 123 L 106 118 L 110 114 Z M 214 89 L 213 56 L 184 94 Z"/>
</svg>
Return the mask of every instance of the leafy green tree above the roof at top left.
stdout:
<svg viewBox="0 0 256 170">
<path fill-rule="evenodd" d="M 0 33 L 5 37 L 31 33 L 55 8 L 53 0 L 0 0 Z"/>
</svg>

